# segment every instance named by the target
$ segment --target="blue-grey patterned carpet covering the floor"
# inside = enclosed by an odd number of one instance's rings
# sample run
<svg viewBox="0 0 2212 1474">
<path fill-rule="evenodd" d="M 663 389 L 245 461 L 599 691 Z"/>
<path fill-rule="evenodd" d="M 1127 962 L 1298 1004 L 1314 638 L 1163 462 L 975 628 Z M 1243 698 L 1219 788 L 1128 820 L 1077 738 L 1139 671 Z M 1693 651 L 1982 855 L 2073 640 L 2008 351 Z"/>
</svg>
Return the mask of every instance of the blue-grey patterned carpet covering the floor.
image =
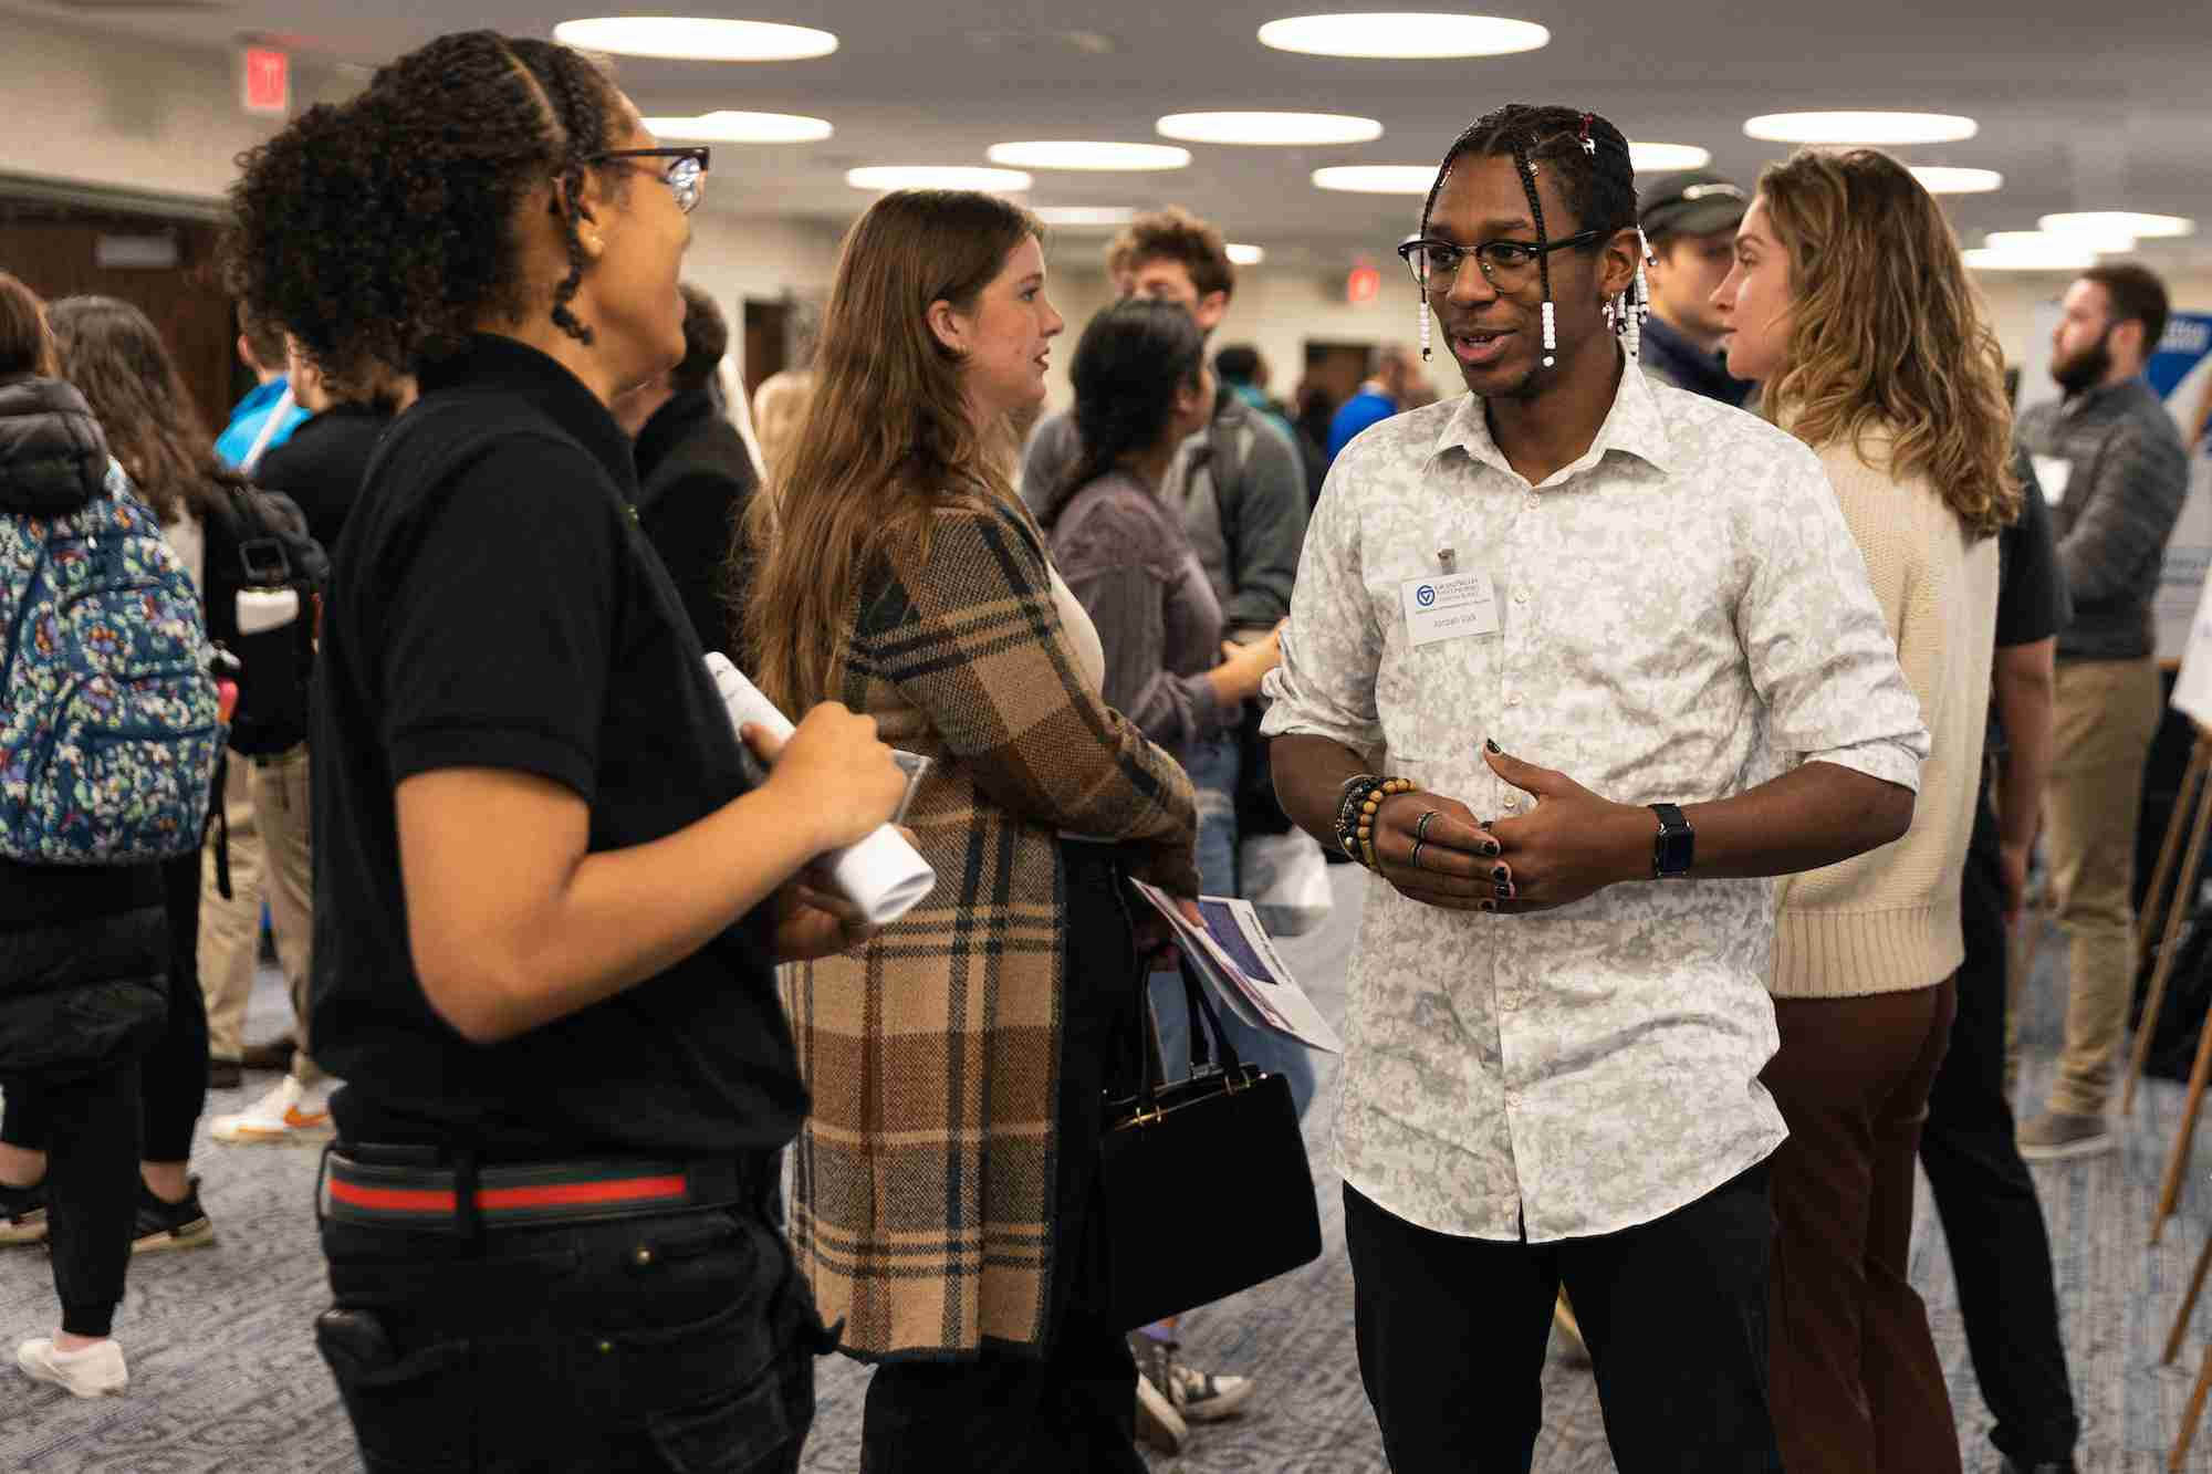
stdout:
<svg viewBox="0 0 2212 1474">
<path fill-rule="evenodd" d="M 1343 1009 L 1358 881 L 1338 881 L 1338 914 L 1325 934 L 1285 945 L 1301 980 L 1329 1014 Z M 2042 1100 L 2057 1047 L 2059 947 L 2044 947 L 2026 1009 L 2022 1098 Z M 283 992 L 263 974 L 252 1038 L 281 1023 Z M 254 1089 L 265 1076 L 250 1078 Z M 1314 1160 L 1325 1162 L 1334 1067 L 1307 1122 Z M 208 1115 L 248 1104 L 223 1091 Z M 2159 1171 L 2181 1109 L 2181 1087 L 2152 1080 L 2124 1129 L 2124 1149 L 2079 1164 L 2037 1169 L 2057 1250 L 2059 1304 L 2086 1434 L 2081 1470 L 2150 1474 L 2163 1467 L 2188 1401 L 2212 1310 L 2201 1310 L 2183 1363 L 2159 1368 L 2166 1328 L 2188 1288 L 2188 1270 L 2212 1231 L 2212 1129 L 2190 1173 L 2181 1215 L 2159 1248 L 2146 1228 Z M 0 1472 L 7 1474 L 338 1474 L 358 1470 L 336 1392 L 310 1341 L 323 1304 L 310 1184 L 314 1153 L 201 1144 L 197 1171 L 221 1244 L 204 1253 L 155 1255 L 131 1268 L 117 1321 L 131 1354 L 131 1394 L 82 1403 L 58 1388 L 22 1381 L 0 1361 Z M 1250 1416 L 1197 1430 L 1177 1474 L 1380 1474 L 1383 1454 L 1360 1394 L 1352 1352 L 1352 1277 L 1343 1259 L 1336 1180 L 1321 1177 L 1323 1259 L 1186 1324 L 1186 1354 L 1214 1370 L 1259 1379 Z M 1913 1279 L 1929 1301 L 1960 1414 L 1969 1470 L 1995 1470 L 1982 1428 L 1973 1368 L 1958 1324 L 1942 1233 L 1922 1193 Z M 53 1286 L 40 1250 L 0 1250 L 0 1350 L 53 1326 Z M 865 1372 L 845 1361 L 821 1368 L 821 1414 L 807 1450 L 810 1474 L 858 1465 Z M 1478 1392 L 1471 1388 L 1471 1392 Z M 1540 1474 L 1613 1470 L 1586 1368 L 1555 1357 L 1544 1379 L 1546 1430 Z M 2188 1465 L 2212 1472 L 2212 1432 Z"/>
</svg>

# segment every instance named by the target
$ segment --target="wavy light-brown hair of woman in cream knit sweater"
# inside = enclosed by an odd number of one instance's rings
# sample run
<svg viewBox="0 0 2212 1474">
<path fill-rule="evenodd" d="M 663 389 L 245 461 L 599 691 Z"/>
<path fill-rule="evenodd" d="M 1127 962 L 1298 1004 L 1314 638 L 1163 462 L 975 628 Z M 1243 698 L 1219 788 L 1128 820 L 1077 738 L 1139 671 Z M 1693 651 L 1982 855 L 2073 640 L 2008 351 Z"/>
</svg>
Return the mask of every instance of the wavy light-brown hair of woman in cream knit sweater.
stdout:
<svg viewBox="0 0 2212 1474">
<path fill-rule="evenodd" d="M 1796 319 L 1767 418 L 1807 445 L 1887 436 L 1891 476 L 1927 476 L 1980 538 L 2020 516 L 2004 350 L 1942 208 L 1874 148 L 1801 150 L 1759 175 L 1790 255 Z"/>
</svg>

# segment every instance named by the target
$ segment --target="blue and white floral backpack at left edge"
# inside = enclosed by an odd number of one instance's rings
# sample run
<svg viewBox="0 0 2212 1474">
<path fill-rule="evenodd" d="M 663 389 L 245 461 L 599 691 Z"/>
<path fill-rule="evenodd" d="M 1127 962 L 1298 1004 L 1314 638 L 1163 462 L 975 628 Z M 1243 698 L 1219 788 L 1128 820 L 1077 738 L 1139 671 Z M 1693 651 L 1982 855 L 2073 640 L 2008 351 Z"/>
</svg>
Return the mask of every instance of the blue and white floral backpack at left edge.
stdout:
<svg viewBox="0 0 2212 1474">
<path fill-rule="evenodd" d="M 128 865 L 201 841 L 223 746 L 199 593 L 124 469 L 0 516 L 0 857 Z"/>
</svg>

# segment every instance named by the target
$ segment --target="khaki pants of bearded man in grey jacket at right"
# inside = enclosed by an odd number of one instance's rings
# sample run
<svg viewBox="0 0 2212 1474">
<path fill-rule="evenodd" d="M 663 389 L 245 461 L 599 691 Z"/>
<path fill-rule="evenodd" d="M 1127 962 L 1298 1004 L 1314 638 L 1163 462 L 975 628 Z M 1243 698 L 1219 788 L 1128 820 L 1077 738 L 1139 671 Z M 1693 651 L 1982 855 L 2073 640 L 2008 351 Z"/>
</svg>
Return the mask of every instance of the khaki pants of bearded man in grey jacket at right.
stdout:
<svg viewBox="0 0 2212 1474">
<path fill-rule="evenodd" d="M 2154 660 L 2057 666 L 2044 854 L 2051 910 L 2068 938 L 2066 1047 L 2051 1109 L 2101 1115 L 2135 989 L 2135 830 L 2159 730 Z"/>
</svg>

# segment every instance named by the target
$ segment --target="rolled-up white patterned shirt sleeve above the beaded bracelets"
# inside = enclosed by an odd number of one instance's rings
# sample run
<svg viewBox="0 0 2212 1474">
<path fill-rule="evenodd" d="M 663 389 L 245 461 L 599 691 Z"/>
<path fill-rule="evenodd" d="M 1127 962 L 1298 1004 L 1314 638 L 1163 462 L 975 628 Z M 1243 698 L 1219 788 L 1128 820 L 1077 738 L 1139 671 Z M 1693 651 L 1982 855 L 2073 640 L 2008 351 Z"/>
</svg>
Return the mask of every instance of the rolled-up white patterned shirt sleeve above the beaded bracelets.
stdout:
<svg viewBox="0 0 2212 1474">
<path fill-rule="evenodd" d="M 1383 746 L 1376 715 L 1383 631 L 1360 575 L 1358 496 L 1347 487 L 1356 467 L 1356 458 L 1338 460 L 1314 507 L 1283 629 L 1283 664 L 1261 686 L 1272 702 L 1261 735 L 1327 737 L 1374 752 Z"/>
</svg>

